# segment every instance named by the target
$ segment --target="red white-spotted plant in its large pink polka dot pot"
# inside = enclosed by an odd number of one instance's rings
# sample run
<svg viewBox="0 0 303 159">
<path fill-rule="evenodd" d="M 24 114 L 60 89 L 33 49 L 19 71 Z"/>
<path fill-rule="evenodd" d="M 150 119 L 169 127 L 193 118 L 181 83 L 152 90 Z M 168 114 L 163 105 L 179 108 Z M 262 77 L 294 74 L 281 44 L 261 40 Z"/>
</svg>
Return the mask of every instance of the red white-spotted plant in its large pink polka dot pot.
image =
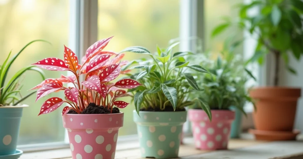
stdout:
<svg viewBox="0 0 303 159">
<path fill-rule="evenodd" d="M 118 129 L 123 126 L 123 112 L 128 103 L 118 101 L 120 97 L 130 96 L 123 89 L 141 85 L 132 79 L 112 82 L 121 73 L 120 62 L 124 54 L 103 51 L 112 39 L 106 38 L 91 45 L 78 64 L 78 57 L 65 46 L 64 60 L 45 58 L 33 64 L 53 71 L 70 71 L 73 75 L 48 79 L 35 87 L 37 99 L 55 91 L 64 91 L 65 99 L 53 97 L 46 100 L 40 109 L 41 114 L 55 111 L 63 103 L 69 104 L 62 111 L 63 126 L 68 137 L 73 159 L 115 158 Z M 110 59 L 110 57 L 114 58 Z M 85 81 L 80 81 L 80 76 Z M 63 83 L 72 84 L 65 87 Z M 121 89 L 122 88 L 122 89 Z M 116 107 L 114 107 L 116 106 Z"/>
</svg>

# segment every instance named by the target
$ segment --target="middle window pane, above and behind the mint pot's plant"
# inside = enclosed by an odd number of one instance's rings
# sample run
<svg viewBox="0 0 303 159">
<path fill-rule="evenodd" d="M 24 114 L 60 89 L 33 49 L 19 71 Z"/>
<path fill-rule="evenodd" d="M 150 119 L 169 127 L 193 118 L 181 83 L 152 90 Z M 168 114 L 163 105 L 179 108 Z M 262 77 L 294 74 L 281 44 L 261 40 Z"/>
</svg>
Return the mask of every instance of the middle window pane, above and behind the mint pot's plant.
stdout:
<svg viewBox="0 0 303 159">
<path fill-rule="evenodd" d="M 156 45 L 165 48 L 168 41 L 179 36 L 179 0 L 99 0 L 98 39 L 114 35 L 105 50 L 119 52 L 129 46 L 144 46 L 156 51 Z M 124 60 L 142 55 L 126 53 Z M 125 98 L 130 102 L 130 98 Z M 124 126 L 119 135 L 136 134 L 133 122 L 133 103 L 124 108 Z"/>
</svg>

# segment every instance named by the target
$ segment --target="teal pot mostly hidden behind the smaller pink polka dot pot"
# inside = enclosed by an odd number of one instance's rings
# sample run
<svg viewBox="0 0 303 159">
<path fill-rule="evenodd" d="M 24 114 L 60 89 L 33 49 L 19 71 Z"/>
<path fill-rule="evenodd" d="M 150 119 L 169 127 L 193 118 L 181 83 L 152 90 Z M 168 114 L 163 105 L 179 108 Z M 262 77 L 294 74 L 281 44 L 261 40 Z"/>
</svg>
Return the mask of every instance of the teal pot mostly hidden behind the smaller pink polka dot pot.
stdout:
<svg viewBox="0 0 303 159">
<path fill-rule="evenodd" d="M 231 124 L 231 138 L 239 138 L 242 130 L 242 112 L 238 109 L 231 108 L 235 111 L 235 120 Z"/>
</svg>

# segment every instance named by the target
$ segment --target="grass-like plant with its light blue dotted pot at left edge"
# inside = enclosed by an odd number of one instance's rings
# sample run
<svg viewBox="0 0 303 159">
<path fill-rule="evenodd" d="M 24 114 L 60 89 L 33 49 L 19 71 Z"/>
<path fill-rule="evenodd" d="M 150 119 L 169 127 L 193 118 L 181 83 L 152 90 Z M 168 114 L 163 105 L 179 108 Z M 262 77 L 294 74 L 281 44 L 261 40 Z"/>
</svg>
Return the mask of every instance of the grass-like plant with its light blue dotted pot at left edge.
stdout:
<svg viewBox="0 0 303 159">
<path fill-rule="evenodd" d="M 22 53 L 22 51 L 35 41 L 34 40 L 25 45 L 15 56 L 11 59 L 10 55 L 0 65 L 0 158 L 18 158 L 23 153 L 16 149 L 19 136 L 19 127 L 22 117 L 23 108 L 28 107 L 26 104 L 21 104 L 22 101 L 35 93 L 35 91 L 22 96 L 20 94 L 22 84 L 20 77 L 27 71 L 38 72 L 43 79 L 44 73 L 41 69 L 35 66 L 27 66 L 16 72 L 11 78 L 8 77 L 8 72 L 13 62 Z M 20 97 L 19 97 L 20 96 Z"/>
</svg>

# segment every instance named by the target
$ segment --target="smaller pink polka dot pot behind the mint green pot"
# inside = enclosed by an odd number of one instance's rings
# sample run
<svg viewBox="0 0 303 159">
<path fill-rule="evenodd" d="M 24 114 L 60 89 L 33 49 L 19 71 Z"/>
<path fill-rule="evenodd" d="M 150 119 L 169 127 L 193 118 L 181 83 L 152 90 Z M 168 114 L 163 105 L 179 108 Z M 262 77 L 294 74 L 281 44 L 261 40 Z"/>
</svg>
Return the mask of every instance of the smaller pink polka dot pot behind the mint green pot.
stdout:
<svg viewBox="0 0 303 159">
<path fill-rule="evenodd" d="M 188 110 L 195 147 L 201 150 L 227 149 L 231 123 L 235 112 L 229 110 L 211 110 L 212 121 L 209 121 L 203 110 Z"/>
</svg>

